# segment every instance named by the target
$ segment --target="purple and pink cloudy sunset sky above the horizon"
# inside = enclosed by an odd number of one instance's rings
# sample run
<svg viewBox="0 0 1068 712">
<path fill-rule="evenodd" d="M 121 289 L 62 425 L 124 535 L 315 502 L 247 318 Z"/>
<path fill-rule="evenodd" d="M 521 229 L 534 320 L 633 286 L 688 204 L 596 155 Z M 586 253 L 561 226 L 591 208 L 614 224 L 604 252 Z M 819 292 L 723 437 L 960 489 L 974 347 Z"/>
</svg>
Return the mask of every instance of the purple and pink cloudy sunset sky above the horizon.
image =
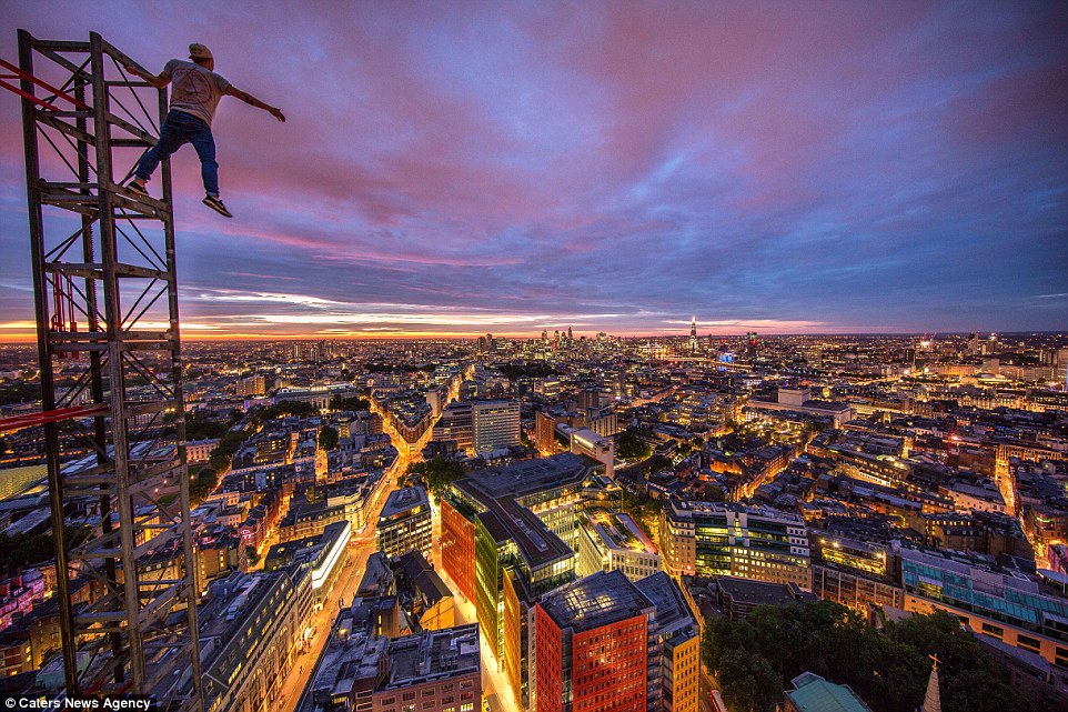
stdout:
<svg viewBox="0 0 1068 712">
<path fill-rule="evenodd" d="M 0 1 L 223 99 L 183 335 L 1068 329 L 1065 2 Z M 0 341 L 32 334 L 0 93 Z M 124 172 L 124 169 L 123 169 Z M 150 190 L 159 194 L 158 183 Z"/>
</svg>

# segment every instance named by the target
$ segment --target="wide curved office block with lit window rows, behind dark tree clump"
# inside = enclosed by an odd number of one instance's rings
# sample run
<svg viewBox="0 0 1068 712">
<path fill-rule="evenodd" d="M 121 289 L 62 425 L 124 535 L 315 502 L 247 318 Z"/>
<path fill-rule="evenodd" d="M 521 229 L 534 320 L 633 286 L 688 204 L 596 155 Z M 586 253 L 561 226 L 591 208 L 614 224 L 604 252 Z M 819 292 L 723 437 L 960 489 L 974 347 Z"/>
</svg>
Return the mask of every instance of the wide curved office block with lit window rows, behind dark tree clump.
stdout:
<svg viewBox="0 0 1068 712">
<path fill-rule="evenodd" d="M 661 554 L 673 576 L 732 575 L 808 589 L 808 539 L 797 514 L 723 502 L 672 500 Z"/>
</svg>

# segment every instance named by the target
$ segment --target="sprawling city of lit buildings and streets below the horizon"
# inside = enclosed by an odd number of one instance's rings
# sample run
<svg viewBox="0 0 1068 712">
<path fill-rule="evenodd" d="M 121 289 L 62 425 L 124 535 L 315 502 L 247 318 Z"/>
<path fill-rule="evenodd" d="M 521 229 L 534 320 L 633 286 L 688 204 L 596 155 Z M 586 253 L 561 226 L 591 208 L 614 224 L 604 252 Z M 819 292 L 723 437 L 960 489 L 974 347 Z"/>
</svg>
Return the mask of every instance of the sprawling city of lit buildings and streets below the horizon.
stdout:
<svg viewBox="0 0 1068 712">
<path fill-rule="evenodd" d="M 1068 333 L 722 337 L 695 319 L 182 350 L 184 419 L 134 424 L 188 461 L 206 710 L 1068 706 Z M 9 422 L 41 410 L 37 358 L 0 348 Z M 144 359 L 128 401 L 152 400 L 162 364 Z M 91 474 L 77 429 L 58 438 L 63 477 Z M 6 694 L 64 684 L 46 454 L 40 425 L 0 433 Z M 177 507 L 183 484 L 139 497 Z M 99 498 L 75 501 L 68 539 L 105 536 Z M 139 551 L 139 576 L 190 565 L 173 542 Z M 68 582 L 84 611 L 91 569 Z M 855 633 L 896 652 L 828 662 L 790 616 L 827 622 L 834 650 Z M 760 643 L 773 621 L 790 645 Z"/>
</svg>

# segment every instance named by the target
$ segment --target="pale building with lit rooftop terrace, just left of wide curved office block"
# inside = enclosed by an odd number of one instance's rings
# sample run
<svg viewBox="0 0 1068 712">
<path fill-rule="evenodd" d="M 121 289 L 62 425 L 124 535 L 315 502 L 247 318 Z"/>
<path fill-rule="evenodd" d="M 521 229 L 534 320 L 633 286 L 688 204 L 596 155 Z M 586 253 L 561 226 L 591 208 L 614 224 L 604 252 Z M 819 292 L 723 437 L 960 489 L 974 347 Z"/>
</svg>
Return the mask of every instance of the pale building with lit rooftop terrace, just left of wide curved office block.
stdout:
<svg viewBox="0 0 1068 712">
<path fill-rule="evenodd" d="M 577 575 L 618 569 L 632 581 L 661 570 L 661 556 L 628 514 L 587 510 L 578 518 Z"/>
</svg>

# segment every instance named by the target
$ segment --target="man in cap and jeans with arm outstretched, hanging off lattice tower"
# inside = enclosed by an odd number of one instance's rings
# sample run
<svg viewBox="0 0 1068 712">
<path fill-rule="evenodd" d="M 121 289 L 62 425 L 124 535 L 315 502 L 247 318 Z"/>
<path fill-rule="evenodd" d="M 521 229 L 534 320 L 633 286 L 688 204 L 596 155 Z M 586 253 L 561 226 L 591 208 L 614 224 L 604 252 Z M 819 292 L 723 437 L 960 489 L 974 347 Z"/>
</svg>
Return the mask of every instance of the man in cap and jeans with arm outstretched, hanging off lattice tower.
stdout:
<svg viewBox="0 0 1068 712">
<path fill-rule="evenodd" d="M 285 121 L 285 117 L 281 109 L 263 103 L 216 74 L 213 71 L 215 59 L 211 50 L 203 44 L 190 44 L 189 59 L 192 61 L 172 59 L 159 76 L 142 72 L 137 67 L 125 68 L 128 72 L 137 74 L 153 87 L 163 88 L 174 83 L 170 111 L 160 127 L 160 140 L 138 161 L 134 178 L 127 184 L 127 189 L 147 197 L 149 192 L 144 183 L 152 177 L 160 161 L 170 158 L 182 144 L 192 143 L 200 157 L 201 176 L 208 193 L 203 203 L 219 214 L 232 218 L 219 198 L 219 163 L 215 162 L 215 140 L 211 136 L 211 120 L 215 116 L 219 100 L 223 96 L 236 97 L 248 104 L 270 112 L 279 121 Z"/>
</svg>

